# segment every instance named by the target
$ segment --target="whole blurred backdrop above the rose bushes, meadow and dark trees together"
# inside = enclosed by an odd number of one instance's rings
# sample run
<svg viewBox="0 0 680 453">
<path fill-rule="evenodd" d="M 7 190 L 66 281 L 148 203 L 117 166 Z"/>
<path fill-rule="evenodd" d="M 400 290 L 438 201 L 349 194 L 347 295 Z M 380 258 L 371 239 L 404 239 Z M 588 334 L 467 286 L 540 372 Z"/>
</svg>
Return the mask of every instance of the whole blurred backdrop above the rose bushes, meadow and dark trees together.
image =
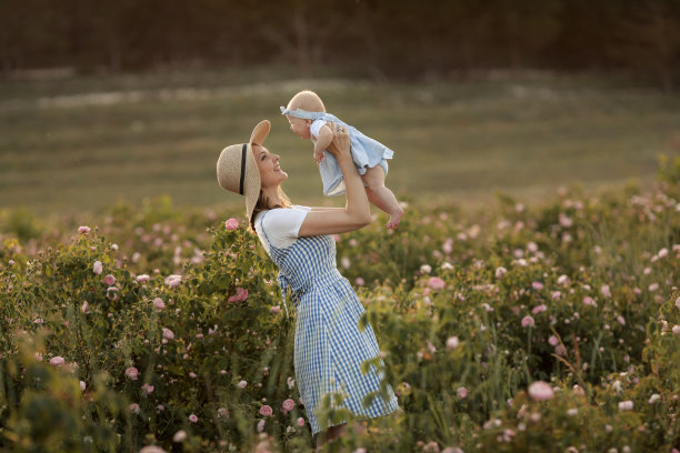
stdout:
<svg viewBox="0 0 680 453">
<path fill-rule="evenodd" d="M 648 184 L 680 155 L 680 0 L 3 0 L 0 209 L 100 212 L 219 189 L 270 119 L 296 202 L 321 197 L 279 113 L 312 89 L 396 152 L 400 198 L 480 204 Z"/>
</svg>

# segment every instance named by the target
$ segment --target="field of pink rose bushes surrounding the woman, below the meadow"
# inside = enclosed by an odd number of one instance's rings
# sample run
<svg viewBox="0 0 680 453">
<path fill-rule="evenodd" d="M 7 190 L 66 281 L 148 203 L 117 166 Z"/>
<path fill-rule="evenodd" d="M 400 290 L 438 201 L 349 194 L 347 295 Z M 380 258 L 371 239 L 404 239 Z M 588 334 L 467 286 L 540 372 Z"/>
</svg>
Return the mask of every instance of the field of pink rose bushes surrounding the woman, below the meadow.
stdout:
<svg viewBox="0 0 680 453">
<path fill-rule="evenodd" d="M 0 214 L 1 451 L 313 447 L 294 310 L 231 217 L 163 199 L 80 228 Z M 400 411 L 330 450 L 680 449 L 680 160 L 650 190 L 383 223 L 338 236 L 338 266 Z"/>
</svg>

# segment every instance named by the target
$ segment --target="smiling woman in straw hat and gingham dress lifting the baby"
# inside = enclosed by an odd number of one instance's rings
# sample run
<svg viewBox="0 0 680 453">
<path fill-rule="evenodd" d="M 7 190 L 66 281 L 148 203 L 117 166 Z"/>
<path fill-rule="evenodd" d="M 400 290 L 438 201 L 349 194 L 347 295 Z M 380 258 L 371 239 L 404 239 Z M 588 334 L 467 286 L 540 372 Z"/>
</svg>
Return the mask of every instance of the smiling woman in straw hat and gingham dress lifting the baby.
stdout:
<svg viewBox="0 0 680 453">
<path fill-rule="evenodd" d="M 341 395 L 333 407 L 371 419 L 398 409 L 392 389 L 387 400 L 376 397 L 367 407 L 364 396 L 380 391 L 382 373 L 371 366 L 361 373 L 361 363 L 380 354 L 370 325 L 358 322 L 363 313 L 353 289 L 336 268 L 336 243 L 330 234 L 354 231 L 370 223 L 370 208 L 363 183 L 352 162 L 348 132 L 340 127 L 329 148 L 340 164 L 347 189 L 344 208 L 290 205 L 281 191 L 288 174 L 279 157 L 263 147 L 271 124 L 261 121 L 249 143 L 224 148 L 217 164 L 218 181 L 229 191 L 246 195 L 246 213 L 268 254 L 279 268 L 279 284 L 286 303 L 290 288 L 298 319 L 294 370 L 312 435 L 322 444 L 341 435 L 347 422 L 321 426 L 323 395 Z M 288 312 L 288 308 L 287 308 Z M 336 400 L 333 400 L 336 401 Z M 354 429 L 360 429 L 354 423 Z"/>
</svg>

